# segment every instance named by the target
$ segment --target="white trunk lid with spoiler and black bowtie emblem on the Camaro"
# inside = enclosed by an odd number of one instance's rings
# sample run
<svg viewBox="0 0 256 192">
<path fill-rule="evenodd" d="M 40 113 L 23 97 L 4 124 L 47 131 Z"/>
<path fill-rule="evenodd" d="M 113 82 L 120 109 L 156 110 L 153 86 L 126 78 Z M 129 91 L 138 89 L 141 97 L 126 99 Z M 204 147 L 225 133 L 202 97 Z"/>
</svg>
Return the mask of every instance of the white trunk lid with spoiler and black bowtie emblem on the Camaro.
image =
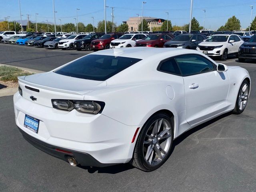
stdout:
<svg viewBox="0 0 256 192">
<path fill-rule="evenodd" d="M 21 76 L 18 80 L 23 98 L 48 107 L 52 107 L 52 99 L 84 100 L 85 94 L 106 86 L 106 81 L 74 78 L 52 71 Z"/>
</svg>

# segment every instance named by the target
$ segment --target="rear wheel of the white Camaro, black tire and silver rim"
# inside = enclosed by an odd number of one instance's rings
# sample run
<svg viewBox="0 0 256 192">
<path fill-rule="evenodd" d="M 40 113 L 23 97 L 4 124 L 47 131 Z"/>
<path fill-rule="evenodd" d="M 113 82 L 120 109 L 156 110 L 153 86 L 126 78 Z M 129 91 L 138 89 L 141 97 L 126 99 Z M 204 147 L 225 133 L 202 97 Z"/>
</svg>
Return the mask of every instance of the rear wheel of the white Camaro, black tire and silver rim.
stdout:
<svg viewBox="0 0 256 192">
<path fill-rule="evenodd" d="M 170 156 L 172 141 L 173 127 L 170 117 L 165 113 L 153 115 L 138 136 L 132 165 L 146 172 L 158 169 Z"/>
</svg>

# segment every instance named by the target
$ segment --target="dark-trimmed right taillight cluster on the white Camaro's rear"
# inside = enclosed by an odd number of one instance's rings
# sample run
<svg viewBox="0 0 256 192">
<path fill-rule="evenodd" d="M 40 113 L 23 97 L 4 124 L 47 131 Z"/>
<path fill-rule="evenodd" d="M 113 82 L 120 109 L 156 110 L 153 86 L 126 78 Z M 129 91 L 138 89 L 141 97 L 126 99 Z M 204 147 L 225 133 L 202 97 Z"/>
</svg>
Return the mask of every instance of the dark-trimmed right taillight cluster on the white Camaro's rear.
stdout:
<svg viewBox="0 0 256 192">
<path fill-rule="evenodd" d="M 72 111 L 76 109 L 81 113 L 98 114 L 102 112 L 105 103 L 101 101 L 52 99 L 52 106 L 58 110 Z"/>
</svg>

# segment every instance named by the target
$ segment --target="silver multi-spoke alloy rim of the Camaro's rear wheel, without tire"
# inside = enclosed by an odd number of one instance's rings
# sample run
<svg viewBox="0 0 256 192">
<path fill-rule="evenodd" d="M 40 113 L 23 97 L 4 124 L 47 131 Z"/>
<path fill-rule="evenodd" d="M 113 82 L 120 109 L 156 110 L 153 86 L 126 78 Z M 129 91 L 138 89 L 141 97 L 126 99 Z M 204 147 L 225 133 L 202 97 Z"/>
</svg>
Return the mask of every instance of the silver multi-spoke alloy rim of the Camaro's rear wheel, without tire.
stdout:
<svg viewBox="0 0 256 192">
<path fill-rule="evenodd" d="M 167 155 L 172 144 L 171 125 L 160 118 L 153 122 L 144 138 L 144 159 L 150 166 L 158 165 Z"/>
</svg>

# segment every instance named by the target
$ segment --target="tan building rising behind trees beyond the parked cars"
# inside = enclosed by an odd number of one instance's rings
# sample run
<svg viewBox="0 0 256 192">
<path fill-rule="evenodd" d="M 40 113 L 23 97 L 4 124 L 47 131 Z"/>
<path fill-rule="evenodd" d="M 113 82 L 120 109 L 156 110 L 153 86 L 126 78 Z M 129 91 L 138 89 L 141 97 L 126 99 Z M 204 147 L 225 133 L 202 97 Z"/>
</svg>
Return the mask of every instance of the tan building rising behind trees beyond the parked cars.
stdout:
<svg viewBox="0 0 256 192">
<path fill-rule="evenodd" d="M 164 19 L 154 17 L 143 17 L 143 19 L 148 23 L 150 31 L 152 31 L 154 27 L 162 26 L 162 23 L 165 21 Z M 141 21 L 142 17 L 130 17 L 129 20 L 126 21 L 128 24 L 128 31 L 141 31 L 141 29 L 138 29 Z"/>
</svg>

